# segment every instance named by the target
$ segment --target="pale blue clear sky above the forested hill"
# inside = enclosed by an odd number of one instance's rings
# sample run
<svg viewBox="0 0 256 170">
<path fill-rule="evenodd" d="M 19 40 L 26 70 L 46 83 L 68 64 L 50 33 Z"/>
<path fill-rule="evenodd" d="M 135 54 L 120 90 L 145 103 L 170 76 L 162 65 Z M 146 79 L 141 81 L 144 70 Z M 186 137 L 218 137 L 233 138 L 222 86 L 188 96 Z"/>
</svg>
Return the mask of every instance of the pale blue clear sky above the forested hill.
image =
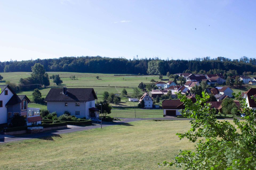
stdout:
<svg viewBox="0 0 256 170">
<path fill-rule="evenodd" d="M 0 61 L 254 58 L 255 9 L 256 1 L 1 0 Z"/>
</svg>

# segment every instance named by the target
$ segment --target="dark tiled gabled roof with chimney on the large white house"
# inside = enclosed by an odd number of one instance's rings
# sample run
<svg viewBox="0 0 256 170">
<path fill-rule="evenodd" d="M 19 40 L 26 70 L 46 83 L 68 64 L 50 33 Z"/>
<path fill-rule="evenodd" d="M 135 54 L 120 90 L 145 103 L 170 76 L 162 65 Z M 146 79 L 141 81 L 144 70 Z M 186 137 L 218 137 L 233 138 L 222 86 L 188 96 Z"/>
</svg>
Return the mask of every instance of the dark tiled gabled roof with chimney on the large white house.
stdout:
<svg viewBox="0 0 256 170">
<path fill-rule="evenodd" d="M 93 88 L 67 88 L 67 93 L 63 94 L 63 88 L 51 88 L 45 101 L 88 101 L 94 95 L 98 99 Z"/>
</svg>

